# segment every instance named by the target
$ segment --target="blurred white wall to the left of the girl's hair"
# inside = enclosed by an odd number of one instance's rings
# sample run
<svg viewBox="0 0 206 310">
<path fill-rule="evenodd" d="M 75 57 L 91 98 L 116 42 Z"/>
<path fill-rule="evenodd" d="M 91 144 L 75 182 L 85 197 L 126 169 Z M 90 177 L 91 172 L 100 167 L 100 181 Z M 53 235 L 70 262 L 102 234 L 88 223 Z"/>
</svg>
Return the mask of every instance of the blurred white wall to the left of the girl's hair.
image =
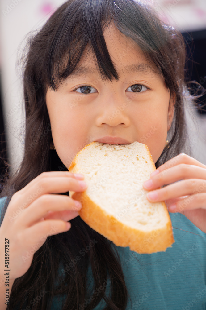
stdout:
<svg viewBox="0 0 206 310">
<path fill-rule="evenodd" d="M 14 170 L 21 161 L 23 144 L 23 88 L 16 62 L 28 32 L 40 28 L 63 0 L 0 1 L 0 68 L 9 162 Z"/>
</svg>

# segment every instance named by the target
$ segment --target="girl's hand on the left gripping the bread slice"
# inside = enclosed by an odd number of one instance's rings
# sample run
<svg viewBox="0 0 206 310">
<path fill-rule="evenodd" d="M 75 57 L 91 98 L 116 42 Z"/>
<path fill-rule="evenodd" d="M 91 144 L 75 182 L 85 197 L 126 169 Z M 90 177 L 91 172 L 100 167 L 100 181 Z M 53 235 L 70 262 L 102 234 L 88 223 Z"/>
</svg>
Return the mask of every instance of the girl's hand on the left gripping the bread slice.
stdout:
<svg viewBox="0 0 206 310">
<path fill-rule="evenodd" d="M 4 269 L 10 269 L 10 280 L 23 276 L 47 237 L 71 228 L 66 221 L 78 216 L 81 206 L 77 208 L 75 200 L 67 195 L 54 194 L 83 192 L 87 185 L 82 188 L 80 183 L 69 171 L 43 172 L 11 197 L 0 226 L 1 275 Z M 9 239 L 9 256 L 5 256 L 5 238 Z"/>
</svg>

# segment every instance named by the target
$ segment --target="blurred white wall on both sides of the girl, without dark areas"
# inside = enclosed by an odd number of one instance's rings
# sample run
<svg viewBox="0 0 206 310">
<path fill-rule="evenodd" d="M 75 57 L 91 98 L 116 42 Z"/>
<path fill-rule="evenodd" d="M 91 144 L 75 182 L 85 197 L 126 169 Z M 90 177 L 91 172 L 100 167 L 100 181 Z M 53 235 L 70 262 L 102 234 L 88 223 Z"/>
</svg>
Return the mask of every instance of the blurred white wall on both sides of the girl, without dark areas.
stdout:
<svg viewBox="0 0 206 310">
<path fill-rule="evenodd" d="M 63 2 L 65 1 L 0 1 L 0 68 L 2 71 L 0 77 L 3 92 L 3 115 L 9 162 L 14 170 L 21 161 L 23 136 L 21 136 L 20 129 L 24 120 L 22 83 L 19 79 L 20 72 L 15 69 L 16 62 L 24 47 L 26 34 L 40 28 Z M 169 20 L 180 30 L 206 29 L 206 0 L 156 0 L 155 3 L 157 3 L 157 9 L 158 7 L 163 9 L 164 16 L 162 18 Z M 168 13 L 172 17 L 169 17 Z M 205 120 L 203 119 L 202 122 L 205 123 Z M 194 157 L 196 156 L 206 164 L 205 144 L 203 141 L 200 151 L 195 150 Z"/>
</svg>

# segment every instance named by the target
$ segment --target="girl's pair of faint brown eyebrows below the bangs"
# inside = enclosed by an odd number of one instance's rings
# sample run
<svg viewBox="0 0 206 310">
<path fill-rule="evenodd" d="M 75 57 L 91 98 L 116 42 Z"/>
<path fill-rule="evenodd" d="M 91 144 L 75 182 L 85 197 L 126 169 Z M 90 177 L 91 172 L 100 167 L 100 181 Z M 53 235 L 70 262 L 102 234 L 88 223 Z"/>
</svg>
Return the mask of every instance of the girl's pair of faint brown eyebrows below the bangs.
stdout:
<svg viewBox="0 0 206 310">
<path fill-rule="evenodd" d="M 155 71 L 149 64 L 130 64 L 124 67 L 124 71 L 127 73 L 149 73 L 153 77 L 156 77 L 157 71 Z M 78 67 L 71 74 L 69 74 L 68 78 L 78 78 L 80 74 L 86 75 L 95 75 L 98 73 L 96 68 L 92 67 Z"/>
</svg>

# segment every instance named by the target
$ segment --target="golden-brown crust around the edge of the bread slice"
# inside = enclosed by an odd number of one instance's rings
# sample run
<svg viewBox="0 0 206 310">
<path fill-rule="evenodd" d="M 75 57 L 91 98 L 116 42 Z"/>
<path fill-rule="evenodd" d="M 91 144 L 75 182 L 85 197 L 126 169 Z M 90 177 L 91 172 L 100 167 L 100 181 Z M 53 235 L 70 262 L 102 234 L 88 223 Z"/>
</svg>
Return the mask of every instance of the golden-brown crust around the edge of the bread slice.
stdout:
<svg viewBox="0 0 206 310">
<path fill-rule="evenodd" d="M 81 173 L 81 171 L 78 171 L 76 158 L 90 144 L 87 144 L 77 153 L 69 166 L 69 172 Z M 156 170 L 149 148 L 147 146 L 146 148 L 153 164 L 153 170 Z M 70 193 L 72 195 L 74 192 L 69 192 L 69 195 Z M 172 244 L 175 242 L 170 215 L 164 202 L 162 202 L 162 206 L 164 207 L 167 216 L 165 227 L 145 232 L 131 228 L 118 221 L 112 215 L 109 215 L 90 199 L 86 194 L 86 191 L 74 193 L 72 198 L 82 203 L 82 209 L 78 211 L 78 214 L 83 221 L 92 229 L 111 240 L 116 246 L 129 246 L 130 250 L 139 254 L 151 254 L 160 251 L 165 252 L 166 249 L 172 247 Z"/>
</svg>

